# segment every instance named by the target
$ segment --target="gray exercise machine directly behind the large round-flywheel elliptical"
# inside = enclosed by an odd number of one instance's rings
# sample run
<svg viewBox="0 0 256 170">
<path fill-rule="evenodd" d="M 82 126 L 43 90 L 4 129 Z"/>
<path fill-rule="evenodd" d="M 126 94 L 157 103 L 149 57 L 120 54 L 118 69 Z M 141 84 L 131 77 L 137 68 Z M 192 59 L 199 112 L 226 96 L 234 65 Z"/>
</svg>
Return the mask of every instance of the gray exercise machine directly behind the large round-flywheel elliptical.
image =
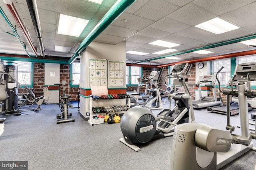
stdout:
<svg viewBox="0 0 256 170">
<path fill-rule="evenodd" d="M 144 102 L 139 102 L 138 105 L 142 107 L 147 107 L 148 109 L 162 109 L 162 99 L 161 94 L 158 88 L 158 83 L 160 80 L 160 76 L 162 74 L 164 68 L 161 68 L 160 71 L 152 71 L 150 75 L 145 78 L 145 80 L 150 80 L 150 84 L 152 84 L 152 88 L 149 89 L 151 96 L 148 100 Z M 153 86 L 155 86 L 153 88 Z"/>
</svg>

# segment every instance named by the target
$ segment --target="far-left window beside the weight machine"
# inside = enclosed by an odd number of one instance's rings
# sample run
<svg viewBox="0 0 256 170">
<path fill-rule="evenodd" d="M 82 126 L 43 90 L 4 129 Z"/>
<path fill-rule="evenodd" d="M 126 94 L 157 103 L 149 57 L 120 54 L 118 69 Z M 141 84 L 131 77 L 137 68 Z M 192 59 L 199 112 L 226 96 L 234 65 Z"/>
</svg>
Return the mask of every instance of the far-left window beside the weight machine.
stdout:
<svg viewBox="0 0 256 170">
<path fill-rule="evenodd" d="M 32 72 L 32 63 L 30 62 L 22 62 L 22 61 L 15 61 L 13 65 L 18 66 L 18 82 L 22 86 L 28 86 L 32 87 L 32 77 L 33 77 L 33 72 Z"/>
</svg>

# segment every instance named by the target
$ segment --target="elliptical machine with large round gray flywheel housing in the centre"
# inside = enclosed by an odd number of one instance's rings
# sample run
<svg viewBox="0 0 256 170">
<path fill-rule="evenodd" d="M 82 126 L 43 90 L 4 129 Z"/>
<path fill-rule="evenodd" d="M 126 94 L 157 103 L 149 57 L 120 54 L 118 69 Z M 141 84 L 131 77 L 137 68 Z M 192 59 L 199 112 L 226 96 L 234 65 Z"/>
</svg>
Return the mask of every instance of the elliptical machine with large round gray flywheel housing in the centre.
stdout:
<svg viewBox="0 0 256 170">
<path fill-rule="evenodd" d="M 165 76 L 165 78 L 176 78 L 174 79 L 175 91 L 173 94 L 168 94 L 175 100 L 174 109 L 165 109 L 157 117 L 150 109 L 140 106 L 132 107 L 124 113 L 120 123 L 124 136 L 120 139 L 122 143 L 138 152 L 140 148 L 136 145 L 147 143 L 152 139 L 172 136 L 172 129 L 175 125 L 194 121 L 192 99 L 185 82 L 191 66 L 192 64 L 188 67 L 188 63 L 176 64 L 172 72 Z M 187 67 L 187 72 L 182 77 L 181 74 Z M 176 93 L 176 86 L 183 86 L 185 93 Z"/>
</svg>

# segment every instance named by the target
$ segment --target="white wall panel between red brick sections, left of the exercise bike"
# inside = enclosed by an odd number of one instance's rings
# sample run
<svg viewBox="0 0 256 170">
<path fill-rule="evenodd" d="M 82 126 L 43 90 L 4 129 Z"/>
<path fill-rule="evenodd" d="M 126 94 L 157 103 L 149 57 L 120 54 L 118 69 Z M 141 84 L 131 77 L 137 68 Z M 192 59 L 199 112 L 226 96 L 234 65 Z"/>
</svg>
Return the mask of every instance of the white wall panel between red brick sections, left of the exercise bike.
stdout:
<svg viewBox="0 0 256 170">
<path fill-rule="evenodd" d="M 60 83 L 60 64 L 44 63 L 44 85 Z M 49 104 L 59 102 L 59 90 L 50 90 Z"/>
</svg>

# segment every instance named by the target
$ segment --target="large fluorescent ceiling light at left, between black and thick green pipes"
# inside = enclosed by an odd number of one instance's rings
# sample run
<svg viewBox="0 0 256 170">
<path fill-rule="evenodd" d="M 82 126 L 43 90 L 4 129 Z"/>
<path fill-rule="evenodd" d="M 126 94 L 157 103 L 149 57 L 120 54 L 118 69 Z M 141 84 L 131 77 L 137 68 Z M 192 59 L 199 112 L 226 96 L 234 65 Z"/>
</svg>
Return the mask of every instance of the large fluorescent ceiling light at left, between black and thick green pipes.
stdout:
<svg viewBox="0 0 256 170">
<path fill-rule="evenodd" d="M 58 34 L 79 37 L 89 20 L 60 14 Z"/>
</svg>

